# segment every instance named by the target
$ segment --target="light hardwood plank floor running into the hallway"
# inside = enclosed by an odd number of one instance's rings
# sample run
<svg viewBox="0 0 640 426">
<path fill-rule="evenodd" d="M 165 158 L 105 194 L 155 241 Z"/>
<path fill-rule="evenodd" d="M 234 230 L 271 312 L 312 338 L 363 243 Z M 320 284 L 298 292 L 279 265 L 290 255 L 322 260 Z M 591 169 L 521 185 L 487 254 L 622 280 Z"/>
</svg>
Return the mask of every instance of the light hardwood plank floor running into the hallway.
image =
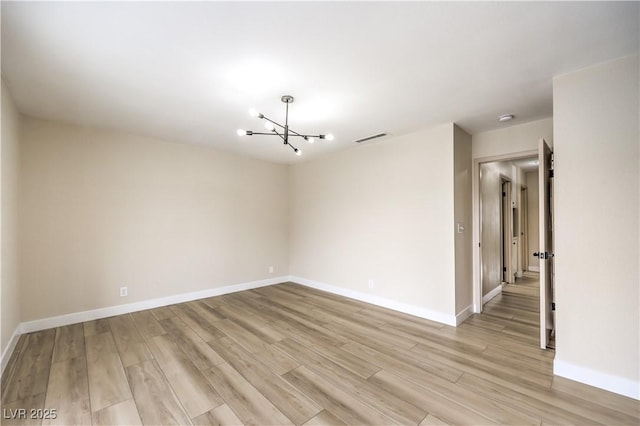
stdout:
<svg viewBox="0 0 640 426">
<path fill-rule="evenodd" d="M 638 401 L 552 376 L 537 312 L 531 278 L 458 328 L 287 283 L 44 330 L 2 424 L 638 425 Z"/>
</svg>

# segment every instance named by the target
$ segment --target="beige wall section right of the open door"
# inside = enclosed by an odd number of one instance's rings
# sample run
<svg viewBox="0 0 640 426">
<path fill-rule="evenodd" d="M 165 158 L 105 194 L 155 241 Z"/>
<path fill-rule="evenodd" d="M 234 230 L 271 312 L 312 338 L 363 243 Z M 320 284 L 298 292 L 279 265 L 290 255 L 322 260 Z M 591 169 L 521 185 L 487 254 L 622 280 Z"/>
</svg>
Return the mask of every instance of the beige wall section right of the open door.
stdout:
<svg viewBox="0 0 640 426">
<path fill-rule="evenodd" d="M 564 367 L 570 365 L 608 374 L 612 377 L 607 383 L 621 379 L 619 383 L 628 383 L 636 398 L 640 398 L 638 69 L 636 55 L 553 80 L 555 367 L 566 372 Z"/>
</svg>

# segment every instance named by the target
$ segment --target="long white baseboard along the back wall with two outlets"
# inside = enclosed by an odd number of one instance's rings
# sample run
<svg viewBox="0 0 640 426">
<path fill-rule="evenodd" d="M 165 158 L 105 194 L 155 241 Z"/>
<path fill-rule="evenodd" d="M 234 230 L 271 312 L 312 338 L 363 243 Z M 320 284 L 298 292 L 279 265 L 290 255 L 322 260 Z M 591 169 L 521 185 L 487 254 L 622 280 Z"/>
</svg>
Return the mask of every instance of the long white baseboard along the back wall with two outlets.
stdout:
<svg viewBox="0 0 640 426">
<path fill-rule="evenodd" d="M 288 279 L 288 276 L 269 278 L 266 280 L 251 281 L 247 283 L 233 284 L 224 287 L 194 291 L 190 293 L 176 294 L 174 296 L 160 297 L 157 299 L 143 300 L 141 302 L 128 303 L 126 305 L 109 306 L 106 308 L 93 309 L 90 311 L 75 312 L 67 315 L 43 318 L 21 323 L 20 331 L 22 333 L 31 333 L 39 330 L 46 330 L 48 328 L 61 327 L 64 325 L 92 321 L 100 318 L 108 318 L 114 315 L 128 314 L 131 312 L 144 311 L 146 309 L 173 305 L 176 303 L 189 302 L 192 300 L 204 299 L 207 297 L 221 296 L 223 294 L 235 293 L 243 290 L 251 290 L 258 287 L 286 282 L 288 281 Z"/>
</svg>

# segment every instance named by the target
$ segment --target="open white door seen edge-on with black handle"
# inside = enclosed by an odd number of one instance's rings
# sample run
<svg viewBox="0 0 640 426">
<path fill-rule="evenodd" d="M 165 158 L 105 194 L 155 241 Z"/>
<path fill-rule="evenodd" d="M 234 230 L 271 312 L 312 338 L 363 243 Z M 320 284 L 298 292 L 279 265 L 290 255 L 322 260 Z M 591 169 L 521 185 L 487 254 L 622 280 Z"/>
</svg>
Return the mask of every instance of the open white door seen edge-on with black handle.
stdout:
<svg viewBox="0 0 640 426">
<path fill-rule="evenodd" d="M 540 347 L 550 347 L 553 317 L 553 165 L 551 148 L 544 139 L 538 144 L 540 197 Z M 534 254 L 535 255 L 535 254 Z M 552 345 L 553 346 L 553 345 Z"/>
</svg>

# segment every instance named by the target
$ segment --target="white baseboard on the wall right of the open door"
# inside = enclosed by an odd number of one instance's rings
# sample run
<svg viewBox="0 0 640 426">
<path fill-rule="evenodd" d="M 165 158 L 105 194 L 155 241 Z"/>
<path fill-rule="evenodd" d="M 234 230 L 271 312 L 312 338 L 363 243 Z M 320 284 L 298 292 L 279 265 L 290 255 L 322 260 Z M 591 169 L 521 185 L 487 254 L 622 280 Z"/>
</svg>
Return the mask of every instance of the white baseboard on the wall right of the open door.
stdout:
<svg viewBox="0 0 640 426">
<path fill-rule="evenodd" d="M 553 360 L 553 374 L 640 400 L 640 382 L 624 377 L 580 367 L 559 359 Z"/>
</svg>

